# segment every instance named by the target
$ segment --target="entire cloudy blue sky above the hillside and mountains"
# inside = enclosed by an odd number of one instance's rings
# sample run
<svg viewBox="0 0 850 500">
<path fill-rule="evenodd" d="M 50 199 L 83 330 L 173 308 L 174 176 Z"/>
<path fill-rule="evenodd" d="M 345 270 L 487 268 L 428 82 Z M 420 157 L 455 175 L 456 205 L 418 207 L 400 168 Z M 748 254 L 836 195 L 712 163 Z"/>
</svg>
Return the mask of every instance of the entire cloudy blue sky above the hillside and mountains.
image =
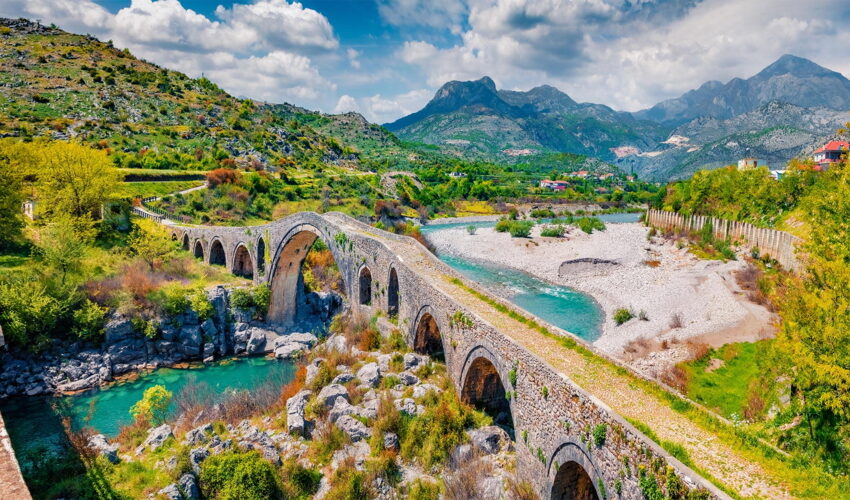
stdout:
<svg viewBox="0 0 850 500">
<path fill-rule="evenodd" d="M 649 107 L 785 53 L 850 75 L 846 0 L 2 0 L 240 97 L 383 123 L 446 81 Z"/>
</svg>

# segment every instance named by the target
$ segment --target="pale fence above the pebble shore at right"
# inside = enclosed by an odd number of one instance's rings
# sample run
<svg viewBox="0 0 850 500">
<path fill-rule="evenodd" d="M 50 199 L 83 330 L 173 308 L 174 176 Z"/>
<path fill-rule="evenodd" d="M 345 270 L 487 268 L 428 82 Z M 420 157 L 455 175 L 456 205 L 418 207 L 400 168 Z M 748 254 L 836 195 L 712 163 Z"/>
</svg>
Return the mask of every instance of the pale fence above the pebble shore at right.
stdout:
<svg viewBox="0 0 850 500">
<path fill-rule="evenodd" d="M 649 209 L 646 220 L 650 226 L 659 229 L 682 229 L 685 231 L 700 231 L 706 224 L 711 224 L 714 237 L 719 239 L 741 240 L 750 248 L 758 248 L 761 255 L 770 255 L 782 267 L 794 272 L 800 272 L 802 265 L 797 258 L 797 244 L 800 238 L 778 231 L 756 227 L 746 222 L 737 222 L 705 215 L 684 216 L 676 212 Z"/>
</svg>

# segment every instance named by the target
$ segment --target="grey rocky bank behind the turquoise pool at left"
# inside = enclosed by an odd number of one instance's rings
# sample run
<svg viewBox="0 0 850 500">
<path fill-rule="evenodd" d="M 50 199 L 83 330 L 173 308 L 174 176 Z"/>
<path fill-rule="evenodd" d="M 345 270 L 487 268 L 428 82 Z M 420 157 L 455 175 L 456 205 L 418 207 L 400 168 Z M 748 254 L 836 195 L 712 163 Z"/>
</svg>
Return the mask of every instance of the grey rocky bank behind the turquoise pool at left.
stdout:
<svg viewBox="0 0 850 500">
<path fill-rule="evenodd" d="M 256 320 L 253 310 L 231 307 L 223 286 L 208 290 L 207 297 L 213 306 L 210 317 L 202 320 L 187 309 L 160 320 L 154 338 L 137 331 L 129 318 L 112 314 L 101 345 L 57 341 L 39 354 L 6 352 L 0 357 L 0 398 L 83 391 L 141 370 L 229 355 L 298 357 L 318 342 L 310 332 L 326 328 L 343 307 L 339 295 L 304 294 L 301 316 L 308 319 L 283 330 Z"/>
</svg>

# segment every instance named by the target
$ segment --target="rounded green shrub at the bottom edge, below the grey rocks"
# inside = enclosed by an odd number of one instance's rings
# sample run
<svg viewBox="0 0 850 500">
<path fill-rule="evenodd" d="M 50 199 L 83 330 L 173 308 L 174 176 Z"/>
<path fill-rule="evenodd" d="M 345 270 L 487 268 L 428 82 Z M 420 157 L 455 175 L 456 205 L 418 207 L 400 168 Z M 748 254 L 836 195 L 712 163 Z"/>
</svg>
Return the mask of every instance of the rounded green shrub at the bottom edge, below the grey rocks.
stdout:
<svg viewBox="0 0 850 500">
<path fill-rule="evenodd" d="M 201 465 L 200 486 L 210 500 L 283 498 L 277 471 L 256 451 L 207 458 Z"/>
</svg>

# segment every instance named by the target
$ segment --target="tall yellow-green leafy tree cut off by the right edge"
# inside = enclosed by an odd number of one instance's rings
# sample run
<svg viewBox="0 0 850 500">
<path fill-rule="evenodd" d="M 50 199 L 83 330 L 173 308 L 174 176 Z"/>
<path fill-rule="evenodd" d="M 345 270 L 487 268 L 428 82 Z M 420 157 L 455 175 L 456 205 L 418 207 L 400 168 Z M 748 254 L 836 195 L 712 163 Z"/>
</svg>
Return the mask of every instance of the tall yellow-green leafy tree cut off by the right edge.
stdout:
<svg viewBox="0 0 850 500">
<path fill-rule="evenodd" d="M 822 174 L 801 204 L 806 272 L 789 279 L 780 352 L 792 366 L 809 436 L 828 456 L 850 448 L 850 162 Z"/>
</svg>

